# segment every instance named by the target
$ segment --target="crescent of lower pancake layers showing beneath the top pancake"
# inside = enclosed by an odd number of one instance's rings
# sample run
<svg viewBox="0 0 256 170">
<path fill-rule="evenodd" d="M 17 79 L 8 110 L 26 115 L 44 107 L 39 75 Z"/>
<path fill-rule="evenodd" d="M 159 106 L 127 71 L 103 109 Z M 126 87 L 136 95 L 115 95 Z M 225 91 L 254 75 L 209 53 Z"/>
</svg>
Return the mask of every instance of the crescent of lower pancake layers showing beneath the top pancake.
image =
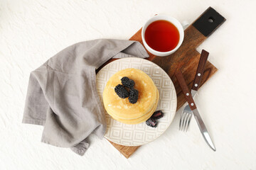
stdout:
<svg viewBox="0 0 256 170">
<path fill-rule="evenodd" d="M 146 120 L 148 120 L 151 117 L 151 115 L 153 115 L 153 113 L 156 111 L 156 107 L 157 107 L 158 101 L 159 101 L 159 92 L 157 94 L 158 94 L 158 98 L 156 100 L 156 103 L 155 103 L 154 107 L 151 109 L 151 111 L 149 111 L 149 113 L 146 113 L 145 115 L 143 115 L 139 118 L 135 118 L 135 119 L 120 119 L 120 118 L 115 118 L 113 115 L 111 115 L 111 117 L 114 120 L 117 120 L 117 121 L 125 123 L 125 124 L 130 124 L 130 125 L 143 123 Z"/>
</svg>

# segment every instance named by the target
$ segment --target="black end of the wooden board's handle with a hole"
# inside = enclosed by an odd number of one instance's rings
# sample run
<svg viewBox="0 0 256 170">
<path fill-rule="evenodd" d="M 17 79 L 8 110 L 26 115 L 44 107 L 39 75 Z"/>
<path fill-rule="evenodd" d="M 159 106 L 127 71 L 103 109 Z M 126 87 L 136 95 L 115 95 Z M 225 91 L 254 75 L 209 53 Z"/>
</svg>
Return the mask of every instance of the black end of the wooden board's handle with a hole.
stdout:
<svg viewBox="0 0 256 170">
<path fill-rule="evenodd" d="M 216 28 L 224 23 L 225 18 L 220 15 L 214 8 L 209 7 L 199 18 L 193 23 L 193 26 L 204 36 L 208 37 Z"/>
</svg>

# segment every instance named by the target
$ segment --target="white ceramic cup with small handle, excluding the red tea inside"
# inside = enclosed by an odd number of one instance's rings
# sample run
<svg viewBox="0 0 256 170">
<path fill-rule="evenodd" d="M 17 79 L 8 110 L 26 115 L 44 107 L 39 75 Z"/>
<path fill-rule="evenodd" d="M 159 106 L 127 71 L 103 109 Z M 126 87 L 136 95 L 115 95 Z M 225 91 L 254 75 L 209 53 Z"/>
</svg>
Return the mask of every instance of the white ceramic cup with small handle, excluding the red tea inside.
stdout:
<svg viewBox="0 0 256 170">
<path fill-rule="evenodd" d="M 171 51 L 159 52 L 159 51 L 156 51 L 156 50 L 152 49 L 151 47 L 149 47 L 149 45 L 147 45 L 147 43 L 146 43 L 146 40 L 145 40 L 146 28 L 149 26 L 149 24 L 153 23 L 154 21 L 159 21 L 159 20 L 169 21 L 170 23 L 174 24 L 174 26 L 176 26 L 176 28 L 178 29 L 178 33 L 180 35 L 178 45 Z M 188 22 L 183 21 L 183 26 L 182 26 L 181 23 L 178 20 L 176 20 L 176 18 L 171 17 L 171 16 L 166 16 L 166 15 L 153 16 L 148 21 L 146 21 L 145 25 L 142 27 L 142 42 L 143 42 L 144 46 L 146 47 L 146 50 L 151 52 L 151 54 L 153 54 L 153 55 L 161 56 L 161 57 L 171 55 L 172 53 L 176 52 L 176 50 L 178 50 L 178 47 L 181 46 L 183 39 L 184 39 L 184 28 L 186 28 L 186 26 L 188 26 Z"/>
</svg>

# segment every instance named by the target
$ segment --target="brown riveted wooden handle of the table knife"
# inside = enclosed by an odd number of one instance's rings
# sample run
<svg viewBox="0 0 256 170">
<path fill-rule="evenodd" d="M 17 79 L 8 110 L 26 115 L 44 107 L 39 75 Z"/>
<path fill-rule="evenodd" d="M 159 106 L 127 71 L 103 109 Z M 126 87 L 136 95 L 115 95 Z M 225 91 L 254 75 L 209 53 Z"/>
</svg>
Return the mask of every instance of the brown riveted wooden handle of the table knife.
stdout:
<svg viewBox="0 0 256 170">
<path fill-rule="evenodd" d="M 186 84 L 186 81 L 183 77 L 183 74 L 181 73 L 180 69 L 177 69 L 175 72 L 175 77 L 178 80 L 178 84 L 181 86 L 181 90 L 183 91 L 183 94 L 186 97 L 186 101 L 188 102 L 188 106 L 191 108 L 191 111 L 196 109 L 196 104 L 193 101 L 193 97 L 191 96 L 191 92 L 188 89 L 188 86 Z"/>
</svg>

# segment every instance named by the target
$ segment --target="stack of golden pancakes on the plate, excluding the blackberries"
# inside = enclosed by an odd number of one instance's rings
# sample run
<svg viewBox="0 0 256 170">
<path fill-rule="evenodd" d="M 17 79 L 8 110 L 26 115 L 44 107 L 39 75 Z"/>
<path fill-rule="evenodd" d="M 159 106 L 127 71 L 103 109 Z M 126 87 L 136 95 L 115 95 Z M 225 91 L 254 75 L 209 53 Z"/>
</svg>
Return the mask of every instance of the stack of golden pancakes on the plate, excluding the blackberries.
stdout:
<svg viewBox="0 0 256 170">
<path fill-rule="evenodd" d="M 122 77 L 134 80 L 134 89 L 139 91 L 137 103 L 129 103 L 128 98 L 119 98 L 114 87 L 121 84 Z M 103 91 L 103 103 L 109 115 L 126 124 L 137 124 L 148 120 L 156 110 L 159 91 L 152 79 L 139 69 L 123 69 L 107 81 Z"/>
</svg>

